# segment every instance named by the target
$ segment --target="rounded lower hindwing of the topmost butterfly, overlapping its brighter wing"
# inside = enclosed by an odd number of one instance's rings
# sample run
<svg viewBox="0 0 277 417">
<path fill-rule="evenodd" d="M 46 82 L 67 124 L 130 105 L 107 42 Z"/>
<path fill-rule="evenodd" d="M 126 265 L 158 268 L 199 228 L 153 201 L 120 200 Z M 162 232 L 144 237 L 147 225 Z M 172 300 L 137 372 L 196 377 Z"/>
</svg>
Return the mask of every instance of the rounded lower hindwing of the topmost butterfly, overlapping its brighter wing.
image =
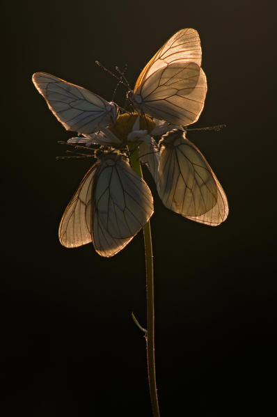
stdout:
<svg viewBox="0 0 277 417">
<path fill-rule="evenodd" d="M 174 125 L 195 123 L 203 110 L 207 80 L 196 63 L 173 63 L 143 79 L 129 95 L 136 109 Z"/>
</svg>

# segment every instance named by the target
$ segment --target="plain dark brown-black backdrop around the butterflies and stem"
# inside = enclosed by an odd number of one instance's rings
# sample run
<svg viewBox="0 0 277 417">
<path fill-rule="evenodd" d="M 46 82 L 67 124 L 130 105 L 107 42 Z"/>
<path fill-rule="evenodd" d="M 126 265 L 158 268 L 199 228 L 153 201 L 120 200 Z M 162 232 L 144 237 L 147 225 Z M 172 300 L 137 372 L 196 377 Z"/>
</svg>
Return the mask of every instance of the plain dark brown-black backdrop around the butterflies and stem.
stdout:
<svg viewBox="0 0 277 417">
<path fill-rule="evenodd" d="M 260 4 L 260 6 L 258 6 Z M 102 71 L 140 70 L 176 31 L 198 30 L 208 92 L 191 133 L 230 204 L 209 228 L 155 198 L 157 386 L 161 416 L 275 416 L 275 11 L 270 2 L 10 3 L 2 66 L 1 370 L 19 416 L 151 416 L 140 233 L 114 258 L 65 249 L 58 223 L 89 162 L 61 161 L 72 136 L 31 75 L 45 71 L 111 100 Z M 121 89 L 116 101 L 121 102 Z M 7 415 L 7 414 L 6 414 Z"/>
</svg>

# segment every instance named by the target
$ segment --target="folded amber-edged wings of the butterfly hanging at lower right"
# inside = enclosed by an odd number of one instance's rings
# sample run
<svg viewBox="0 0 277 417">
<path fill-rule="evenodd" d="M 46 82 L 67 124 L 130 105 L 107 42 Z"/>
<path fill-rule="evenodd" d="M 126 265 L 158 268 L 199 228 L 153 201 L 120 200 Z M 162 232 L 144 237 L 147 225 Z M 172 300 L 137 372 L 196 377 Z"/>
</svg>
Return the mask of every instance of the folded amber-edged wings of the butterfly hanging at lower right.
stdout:
<svg viewBox="0 0 277 417">
<path fill-rule="evenodd" d="M 212 168 L 184 133 L 161 140 L 158 192 L 166 207 L 188 219 L 217 226 L 228 216 L 228 201 Z"/>
</svg>

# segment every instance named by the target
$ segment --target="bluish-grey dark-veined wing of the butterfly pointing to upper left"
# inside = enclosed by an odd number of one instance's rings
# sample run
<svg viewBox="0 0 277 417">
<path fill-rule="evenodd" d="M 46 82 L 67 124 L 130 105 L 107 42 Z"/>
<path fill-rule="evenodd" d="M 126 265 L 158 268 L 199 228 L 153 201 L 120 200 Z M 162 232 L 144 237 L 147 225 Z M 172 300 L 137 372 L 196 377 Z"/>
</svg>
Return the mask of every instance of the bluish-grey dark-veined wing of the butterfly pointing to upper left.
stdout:
<svg viewBox="0 0 277 417">
<path fill-rule="evenodd" d="M 86 88 L 75 86 L 45 72 L 33 74 L 33 84 L 45 98 L 54 116 L 67 130 L 92 134 L 116 121 L 116 104 L 106 102 Z"/>
</svg>

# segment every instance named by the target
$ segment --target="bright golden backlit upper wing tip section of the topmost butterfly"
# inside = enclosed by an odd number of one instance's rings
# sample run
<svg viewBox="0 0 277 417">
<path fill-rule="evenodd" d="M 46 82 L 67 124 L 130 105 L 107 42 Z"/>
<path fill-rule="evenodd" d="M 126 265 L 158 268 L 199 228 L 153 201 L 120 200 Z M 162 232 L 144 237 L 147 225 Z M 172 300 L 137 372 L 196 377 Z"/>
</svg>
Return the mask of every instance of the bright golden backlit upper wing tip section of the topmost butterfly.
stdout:
<svg viewBox="0 0 277 417">
<path fill-rule="evenodd" d="M 145 65 L 136 80 L 134 93 L 146 78 L 154 72 L 172 63 L 192 62 L 201 66 L 201 46 L 198 32 L 195 29 L 181 29 L 159 49 Z"/>
</svg>

